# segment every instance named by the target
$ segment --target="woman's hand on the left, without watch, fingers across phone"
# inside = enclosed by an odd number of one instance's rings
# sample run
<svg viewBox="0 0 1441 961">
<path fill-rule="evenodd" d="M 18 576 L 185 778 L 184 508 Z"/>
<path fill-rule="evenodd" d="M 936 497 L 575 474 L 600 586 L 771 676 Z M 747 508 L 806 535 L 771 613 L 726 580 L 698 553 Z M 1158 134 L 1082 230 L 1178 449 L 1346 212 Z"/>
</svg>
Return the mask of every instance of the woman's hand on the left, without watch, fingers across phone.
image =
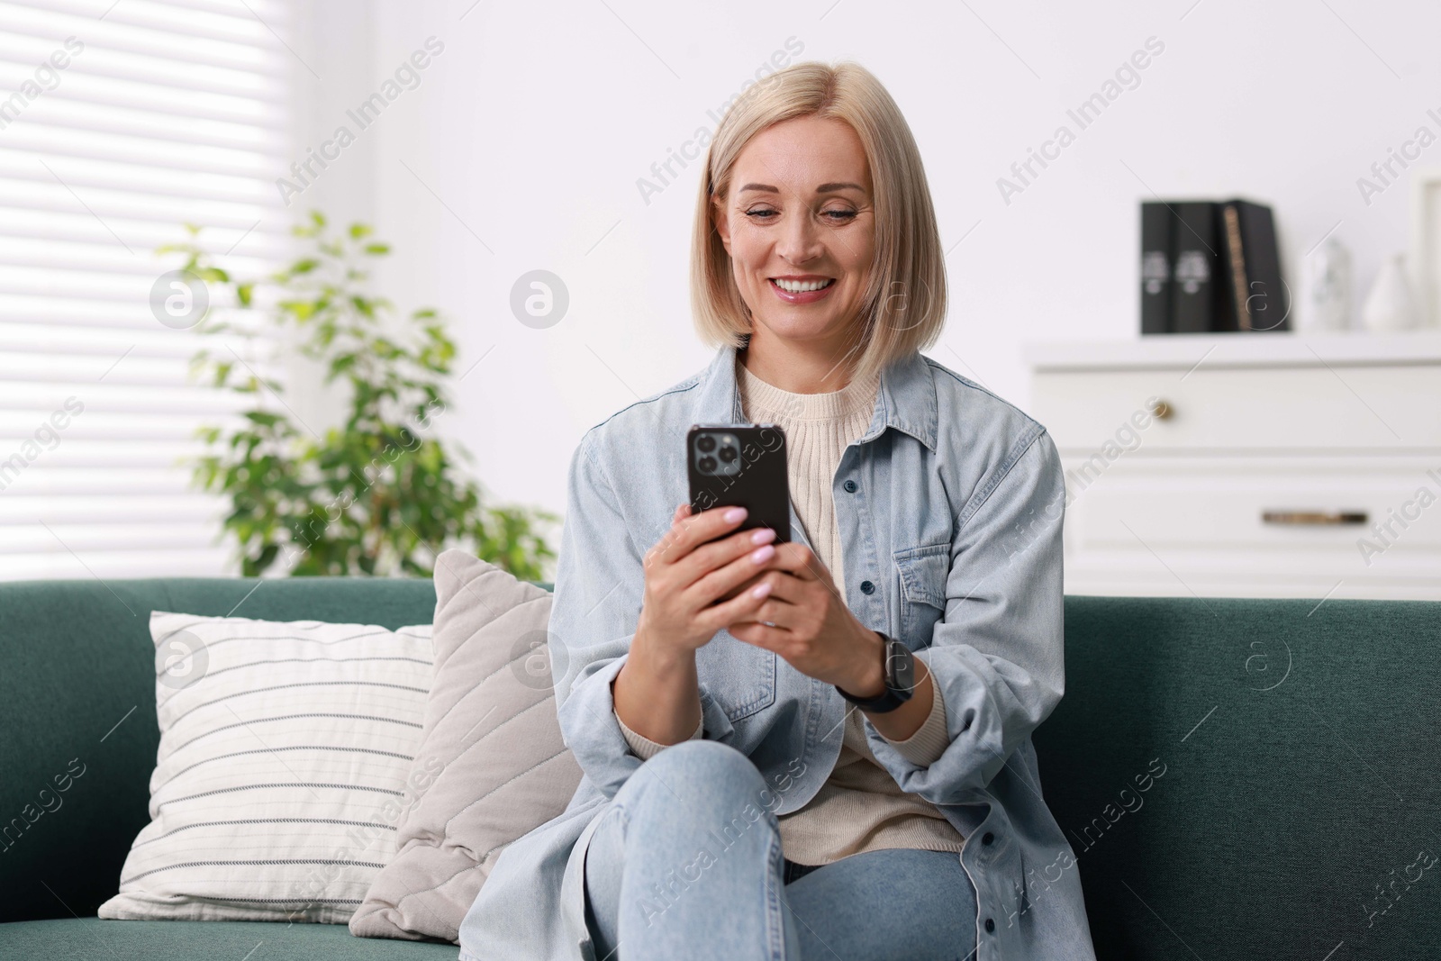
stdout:
<svg viewBox="0 0 1441 961">
<path fill-rule="evenodd" d="M 712 507 L 699 514 L 692 514 L 689 504 L 676 507 L 670 530 L 644 558 L 635 641 L 653 650 L 693 653 L 765 604 L 769 584 L 739 588 L 775 556 L 775 532 L 761 527 L 723 536 L 744 520 L 744 507 Z"/>
</svg>

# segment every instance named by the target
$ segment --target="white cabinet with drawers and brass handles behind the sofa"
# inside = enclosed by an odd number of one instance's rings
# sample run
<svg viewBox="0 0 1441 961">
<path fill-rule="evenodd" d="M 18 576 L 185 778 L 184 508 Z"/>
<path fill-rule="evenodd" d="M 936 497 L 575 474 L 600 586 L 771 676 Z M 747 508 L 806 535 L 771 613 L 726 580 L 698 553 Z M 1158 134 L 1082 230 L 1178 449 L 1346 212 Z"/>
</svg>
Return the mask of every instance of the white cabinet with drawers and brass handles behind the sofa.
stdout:
<svg viewBox="0 0 1441 961">
<path fill-rule="evenodd" d="M 1441 599 L 1441 334 L 1036 344 L 1066 592 Z"/>
</svg>

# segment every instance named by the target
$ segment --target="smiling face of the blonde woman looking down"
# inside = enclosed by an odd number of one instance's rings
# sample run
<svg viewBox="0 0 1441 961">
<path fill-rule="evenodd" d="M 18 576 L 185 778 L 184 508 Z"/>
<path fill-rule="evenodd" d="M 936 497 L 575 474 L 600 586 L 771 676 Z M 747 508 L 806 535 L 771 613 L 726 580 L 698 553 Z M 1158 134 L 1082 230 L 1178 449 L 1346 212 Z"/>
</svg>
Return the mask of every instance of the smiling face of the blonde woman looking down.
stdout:
<svg viewBox="0 0 1441 961">
<path fill-rule="evenodd" d="M 716 231 L 758 327 L 782 340 L 849 339 L 875 256 L 860 137 L 818 117 L 761 131 L 716 200 Z"/>
</svg>

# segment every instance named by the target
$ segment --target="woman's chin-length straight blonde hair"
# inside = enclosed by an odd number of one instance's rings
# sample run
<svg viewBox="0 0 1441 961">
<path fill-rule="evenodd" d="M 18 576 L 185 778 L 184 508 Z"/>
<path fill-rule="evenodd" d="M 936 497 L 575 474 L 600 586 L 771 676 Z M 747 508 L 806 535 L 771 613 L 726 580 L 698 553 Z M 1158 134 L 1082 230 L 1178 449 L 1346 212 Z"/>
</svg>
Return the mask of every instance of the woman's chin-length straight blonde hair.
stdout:
<svg viewBox="0 0 1441 961">
<path fill-rule="evenodd" d="M 795 63 L 731 107 L 706 151 L 690 246 L 696 333 L 712 347 L 745 346 L 751 311 L 715 229 L 713 197 L 725 197 L 741 151 L 762 130 L 795 117 L 842 120 L 856 131 L 875 190 L 875 259 L 852 354 L 865 377 L 935 343 L 945 323 L 945 255 L 915 137 L 901 108 L 859 63 Z"/>
</svg>

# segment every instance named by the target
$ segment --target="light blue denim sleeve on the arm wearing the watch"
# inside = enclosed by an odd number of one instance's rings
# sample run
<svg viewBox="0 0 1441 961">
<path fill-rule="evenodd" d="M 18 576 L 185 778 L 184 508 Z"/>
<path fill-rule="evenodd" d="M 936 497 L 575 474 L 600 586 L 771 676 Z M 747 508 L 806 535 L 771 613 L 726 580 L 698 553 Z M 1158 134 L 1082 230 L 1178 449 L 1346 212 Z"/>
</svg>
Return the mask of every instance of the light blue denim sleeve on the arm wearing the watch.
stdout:
<svg viewBox="0 0 1441 961">
<path fill-rule="evenodd" d="M 876 759 L 932 804 L 974 801 L 1065 692 L 1061 458 L 1039 425 L 1010 454 L 957 517 L 945 614 L 918 654 L 950 743 L 922 766 L 867 723 Z"/>
</svg>

